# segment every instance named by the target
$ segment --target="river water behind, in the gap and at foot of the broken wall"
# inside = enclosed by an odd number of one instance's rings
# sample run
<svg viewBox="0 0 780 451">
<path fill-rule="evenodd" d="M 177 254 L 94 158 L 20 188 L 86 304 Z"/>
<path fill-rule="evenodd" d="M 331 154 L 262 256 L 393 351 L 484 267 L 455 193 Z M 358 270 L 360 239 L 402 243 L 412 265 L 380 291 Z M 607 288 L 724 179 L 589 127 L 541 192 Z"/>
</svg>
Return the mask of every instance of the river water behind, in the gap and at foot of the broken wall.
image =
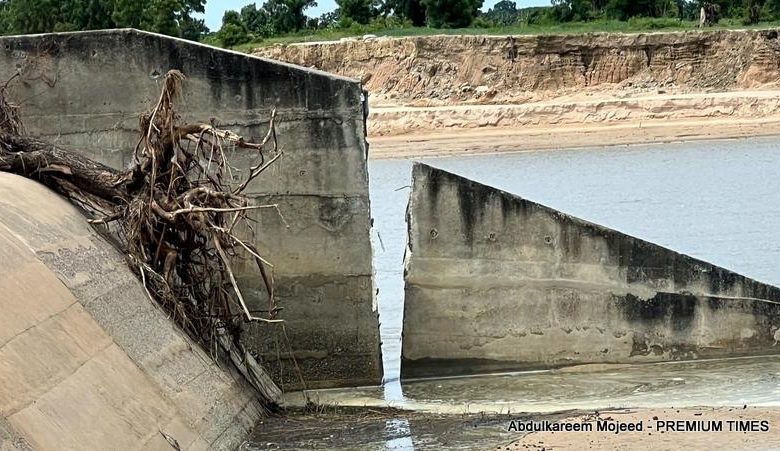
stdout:
<svg viewBox="0 0 780 451">
<path fill-rule="evenodd" d="M 780 284 L 780 138 L 421 161 L 760 281 Z M 398 376 L 411 164 L 404 160 L 372 160 L 369 164 L 385 386 L 320 391 L 310 394 L 315 400 L 437 414 L 780 406 L 780 356 L 590 366 L 576 371 L 405 381 L 402 385 Z M 290 401 L 301 402 L 301 398 L 292 395 Z M 394 421 L 386 425 L 391 430 L 386 440 L 372 448 L 414 449 L 408 420 L 399 417 Z"/>
</svg>

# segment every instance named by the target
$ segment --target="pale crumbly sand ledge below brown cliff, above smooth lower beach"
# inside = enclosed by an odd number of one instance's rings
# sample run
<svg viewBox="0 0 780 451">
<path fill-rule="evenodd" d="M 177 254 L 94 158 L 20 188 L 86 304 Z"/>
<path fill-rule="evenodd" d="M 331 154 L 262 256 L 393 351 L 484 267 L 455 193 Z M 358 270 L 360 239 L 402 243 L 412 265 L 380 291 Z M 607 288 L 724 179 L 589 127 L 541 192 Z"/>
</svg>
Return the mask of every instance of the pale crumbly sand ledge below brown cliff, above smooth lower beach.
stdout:
<svg viewBox="0 0 780 451">
<path fill-rule="evenodd" d="M 647 124 L 726 119 L 726 125 L 729 125 L 735 121 L 776 118 L 780 114 L 780 91 L 654 94 L 625 98 L 604 92 L 579 97 L 516 105 L 374 108 L 369 132 L 372 137 L 378 137 L 434 130 L 538 131 L 548 128 L 557 134 L 576 127 L 617 124 L 634 124 L 641 128 Z"/>
</svg>

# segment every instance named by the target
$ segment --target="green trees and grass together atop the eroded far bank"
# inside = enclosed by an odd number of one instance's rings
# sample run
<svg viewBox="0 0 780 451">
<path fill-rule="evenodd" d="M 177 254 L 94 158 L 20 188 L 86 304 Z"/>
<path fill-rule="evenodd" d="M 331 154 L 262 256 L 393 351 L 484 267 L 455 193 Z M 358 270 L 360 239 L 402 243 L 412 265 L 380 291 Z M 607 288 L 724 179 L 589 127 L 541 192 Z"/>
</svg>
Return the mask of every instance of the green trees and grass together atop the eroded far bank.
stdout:
<svg viewBox="0 0 780 451">
<path fill-rule="evenodd" d="M 483 0 L 337 0 L 339 8 L 306 27 L 256 27 L 241 11 L 245 33 L 226 40 L 218 32 L 206 41 L 248 50 L 277 43 L 343 37 L 429 34 L 547 34 L 691 30 L 707 11 L 707 25 L 749 27 L 780 21 L 780 0 L 551 0 L 549 7 L 517 8 L 501 0 L 480 11 Z M 269 2 L 270 3 L 270 2 Z M 269 3 L 253 11 L 269 10 Z M 246 9 L 246 8 L 244 8 Z M 228 14 L 225 15 L 226 19 Z M 225 22 L 225 26 L 229 26 Z"/>
</svg>

